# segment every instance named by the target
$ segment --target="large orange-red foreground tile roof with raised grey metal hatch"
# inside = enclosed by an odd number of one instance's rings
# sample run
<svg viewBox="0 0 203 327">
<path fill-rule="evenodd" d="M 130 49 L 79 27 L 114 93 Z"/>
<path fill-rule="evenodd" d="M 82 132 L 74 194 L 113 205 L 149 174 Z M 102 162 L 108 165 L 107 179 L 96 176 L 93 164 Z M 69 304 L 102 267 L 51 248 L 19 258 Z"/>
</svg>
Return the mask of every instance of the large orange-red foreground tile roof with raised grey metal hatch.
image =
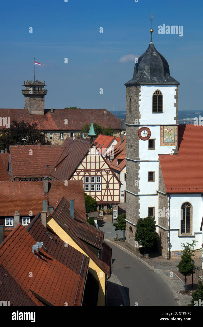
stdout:
<svg viewBox="0 0 203 327">
<path fill-rule="evenodd" d="M 35 244 L 34 238 L 18 224 L 0 244 L 0 263 L 37 305 L 81 305 L 84 279 L 43 248 L 33 253 Z M 80 283 L 83 287 L 79 291 Z"/>
</svg>

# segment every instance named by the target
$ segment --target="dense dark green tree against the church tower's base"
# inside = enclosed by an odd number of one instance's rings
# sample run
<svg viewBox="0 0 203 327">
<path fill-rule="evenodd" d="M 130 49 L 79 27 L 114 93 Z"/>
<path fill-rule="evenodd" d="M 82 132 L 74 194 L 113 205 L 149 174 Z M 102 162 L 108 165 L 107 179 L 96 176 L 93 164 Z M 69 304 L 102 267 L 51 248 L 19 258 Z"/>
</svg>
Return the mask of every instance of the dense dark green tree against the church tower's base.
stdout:
<svg viewBox="0 0 203 327">
<path fill-rule="evenodd" d="M 155 225 L 155 217 L 148 215 L 145 218 L 139 218 L 135 226 L 137 228 L 135 241 L 144 248 L 144 256 L 146 255 L 146 249 L 152 248 L 159 239 Z"/>
</svg>

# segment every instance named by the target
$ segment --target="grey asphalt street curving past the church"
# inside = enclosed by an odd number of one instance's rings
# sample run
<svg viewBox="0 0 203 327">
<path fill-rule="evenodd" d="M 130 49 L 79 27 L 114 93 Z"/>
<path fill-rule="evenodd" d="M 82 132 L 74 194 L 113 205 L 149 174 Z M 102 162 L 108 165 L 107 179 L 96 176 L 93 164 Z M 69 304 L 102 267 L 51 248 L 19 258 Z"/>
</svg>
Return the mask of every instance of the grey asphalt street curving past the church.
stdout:
<svg viewBox="0 0 203 327">
<path fill-rule="evenodd" d="M 149 271 L 147 266 L 112 243 L 109 245 L 113 273 L 123 284 L 131 306 L 135 302 L 138 306 L 177 306 L 169 288 L 154 271 Z"/>
</svg>

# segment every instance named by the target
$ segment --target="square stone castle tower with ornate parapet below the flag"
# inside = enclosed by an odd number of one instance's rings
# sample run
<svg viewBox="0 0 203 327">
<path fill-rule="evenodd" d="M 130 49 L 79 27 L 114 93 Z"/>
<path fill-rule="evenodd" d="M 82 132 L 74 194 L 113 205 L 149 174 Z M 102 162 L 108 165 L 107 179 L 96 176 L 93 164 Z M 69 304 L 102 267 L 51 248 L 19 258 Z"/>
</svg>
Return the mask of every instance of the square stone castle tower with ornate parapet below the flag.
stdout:
<svg viewBox="0 0 203 327">
<path fill-rule="evenodd" d="M 22 90 L 22 94 L 25 96 L 25 109 L 28 109 L 31 115 L 43 115 L 44 114 L 44 97 L 47 94 L 47 90 L 44 90 L 45 83 L 36 80 L 24 81 L 25 89 Z"/>
</svg>

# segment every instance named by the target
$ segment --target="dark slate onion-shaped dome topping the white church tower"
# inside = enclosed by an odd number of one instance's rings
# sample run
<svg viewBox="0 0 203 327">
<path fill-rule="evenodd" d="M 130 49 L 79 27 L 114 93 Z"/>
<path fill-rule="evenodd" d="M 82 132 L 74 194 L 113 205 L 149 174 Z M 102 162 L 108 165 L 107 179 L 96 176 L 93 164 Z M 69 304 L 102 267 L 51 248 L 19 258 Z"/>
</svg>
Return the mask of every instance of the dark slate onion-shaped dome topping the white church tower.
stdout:
<svg viewBox="0 0 203 327">
<path fill-rule="evenodd" d="M 167 60 L 156 50 L 151 42 L 143 55 L 138 58 L 138 63 L 135 64 L 133 78 L 130 79 L 126 86 L 134 84 L 180 84 L 176 79 L 170 76 Z"/>
</svg>

